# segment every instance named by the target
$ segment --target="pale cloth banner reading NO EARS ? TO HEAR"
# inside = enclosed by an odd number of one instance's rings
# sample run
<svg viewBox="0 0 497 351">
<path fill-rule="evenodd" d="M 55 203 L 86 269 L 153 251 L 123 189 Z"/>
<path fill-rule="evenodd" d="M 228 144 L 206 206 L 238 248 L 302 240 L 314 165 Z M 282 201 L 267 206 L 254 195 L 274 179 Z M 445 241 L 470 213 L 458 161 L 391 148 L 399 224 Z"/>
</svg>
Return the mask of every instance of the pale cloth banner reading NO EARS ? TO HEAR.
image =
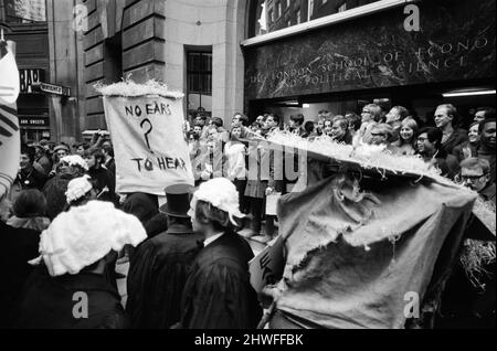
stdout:
<svg viewBox="0 0 497 351">
<path fill-rule="evenodd" d="M 168 185 L 193 185 L 182 95 L 106 94 L 114 91 L 101 89 L 116 159 L 116 192 L 163 195 Z"/>
</svg>

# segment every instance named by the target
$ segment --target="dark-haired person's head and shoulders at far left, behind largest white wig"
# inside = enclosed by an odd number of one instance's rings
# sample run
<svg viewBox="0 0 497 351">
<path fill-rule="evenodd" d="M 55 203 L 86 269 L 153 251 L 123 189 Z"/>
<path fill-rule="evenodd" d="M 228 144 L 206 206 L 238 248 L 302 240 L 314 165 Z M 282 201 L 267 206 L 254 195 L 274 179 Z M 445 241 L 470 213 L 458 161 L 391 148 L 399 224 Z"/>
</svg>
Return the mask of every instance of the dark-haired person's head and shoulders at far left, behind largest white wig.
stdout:
<svg viewBox="0 0 497 351">
<path fill-rule="evenodd" d="M 46 200 L 40 190 L 23 190 L 13 203 L 14 215 L 7 221 L 7 224 L 17 228 L 43 232 L 50 225 L 45 211 Z"/>
</svg>

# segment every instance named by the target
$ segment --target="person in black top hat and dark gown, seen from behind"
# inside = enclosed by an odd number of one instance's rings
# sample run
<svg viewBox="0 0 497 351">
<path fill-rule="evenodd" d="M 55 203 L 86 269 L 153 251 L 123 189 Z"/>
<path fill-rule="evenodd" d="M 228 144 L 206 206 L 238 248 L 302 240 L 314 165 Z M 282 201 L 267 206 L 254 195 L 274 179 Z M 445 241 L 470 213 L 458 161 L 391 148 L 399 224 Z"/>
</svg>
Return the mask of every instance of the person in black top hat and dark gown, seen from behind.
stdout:
<svg viewBox="0 0 497 351">
<path fill-rule="evenodd" d="M 126 310 L 133 328 L 169 328 L 180 320 L 180 301 L 190 266 L 201 248 L 202 235 L 188 216 L 191 185 L 166 189 L 168 230 L 136 249 L 129 263 Z"/>
</svg>

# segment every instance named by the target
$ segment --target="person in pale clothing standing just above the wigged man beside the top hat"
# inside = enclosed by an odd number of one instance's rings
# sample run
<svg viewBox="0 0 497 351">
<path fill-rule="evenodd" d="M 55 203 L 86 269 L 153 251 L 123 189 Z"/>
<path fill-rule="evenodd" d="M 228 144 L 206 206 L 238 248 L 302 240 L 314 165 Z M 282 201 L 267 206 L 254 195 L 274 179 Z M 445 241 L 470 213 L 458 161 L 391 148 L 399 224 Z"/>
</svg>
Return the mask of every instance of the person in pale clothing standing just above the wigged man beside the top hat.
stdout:
<svg viewBox="0 0 497 351">
<path fill-rule="evenodd" d="M 230 141 L 224 146 L 226 157 L 226 178 L 233 182 L 239 192 L 239 205 L 243 209 L 243 194 L 246 187 L 246 147 L 240 141 L 242 127 L 233 127 Z"/>
</svg>

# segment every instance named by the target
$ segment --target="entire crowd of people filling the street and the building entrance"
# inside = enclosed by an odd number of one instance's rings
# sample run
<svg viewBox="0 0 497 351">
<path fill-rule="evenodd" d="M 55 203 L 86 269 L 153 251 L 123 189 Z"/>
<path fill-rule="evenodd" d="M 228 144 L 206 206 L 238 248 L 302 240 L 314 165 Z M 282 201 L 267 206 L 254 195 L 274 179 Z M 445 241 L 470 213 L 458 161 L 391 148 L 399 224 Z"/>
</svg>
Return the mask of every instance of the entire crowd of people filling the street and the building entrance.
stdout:
<svg viewBox="0 0 497 351">
<path fill-rule="evenodd" d="M 199 115 L 186 132 L 195 187 L 167 188 L 160 208 L 155 195 L 116 194 L 113 146 L 101 134 L 72 148 L 50 140 L 23 145 L 0 209 L 7 279 L 0 327 L 255 328 L 262 307 L 250 284 L 254 254 L 236 232 L 250 225 L 251 235 L 272 240 L 277 217 L 266 214 L 266 196 L 297 181 L 274 166 L 265 171 L 274 155 L 258 142 L 282 129 L 417 155 L 495 205 L 495 111 L 477 110 L 467 131 L 458 117 L 453 105 L 440 105 L 435 126 L 422 126 L 402 106 L 385 113 L 369 104 L 360 116 L 321 110 L 316 124 L 302 114 L 288 125 L 275 114 L 248 124 L 235 114 L 225 128 L 223 119 Z M 118 255 L 129 258 L 126 308 L 117 292 Z M 84 308 L 83 317 L 74 315 L 77 291 L 92 291 L 89 316 Z"/>
</svg>

